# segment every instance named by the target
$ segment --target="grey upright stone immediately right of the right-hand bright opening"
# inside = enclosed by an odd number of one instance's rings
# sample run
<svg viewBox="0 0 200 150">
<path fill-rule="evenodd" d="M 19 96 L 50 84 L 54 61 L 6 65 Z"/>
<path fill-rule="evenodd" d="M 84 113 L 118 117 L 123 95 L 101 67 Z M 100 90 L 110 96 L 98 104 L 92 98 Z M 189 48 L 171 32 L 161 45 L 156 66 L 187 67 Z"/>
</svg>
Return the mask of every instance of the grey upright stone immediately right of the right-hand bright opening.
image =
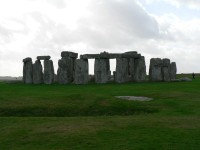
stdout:
<svg viewBox="0 0 200 150">
<path fill-rule="evenodd" d="M 117 83 L 123 83 L 128 81 L 128 59 L 117 58 L 116 59 L 116 73 L 115 81 Z"/>
</svg>

